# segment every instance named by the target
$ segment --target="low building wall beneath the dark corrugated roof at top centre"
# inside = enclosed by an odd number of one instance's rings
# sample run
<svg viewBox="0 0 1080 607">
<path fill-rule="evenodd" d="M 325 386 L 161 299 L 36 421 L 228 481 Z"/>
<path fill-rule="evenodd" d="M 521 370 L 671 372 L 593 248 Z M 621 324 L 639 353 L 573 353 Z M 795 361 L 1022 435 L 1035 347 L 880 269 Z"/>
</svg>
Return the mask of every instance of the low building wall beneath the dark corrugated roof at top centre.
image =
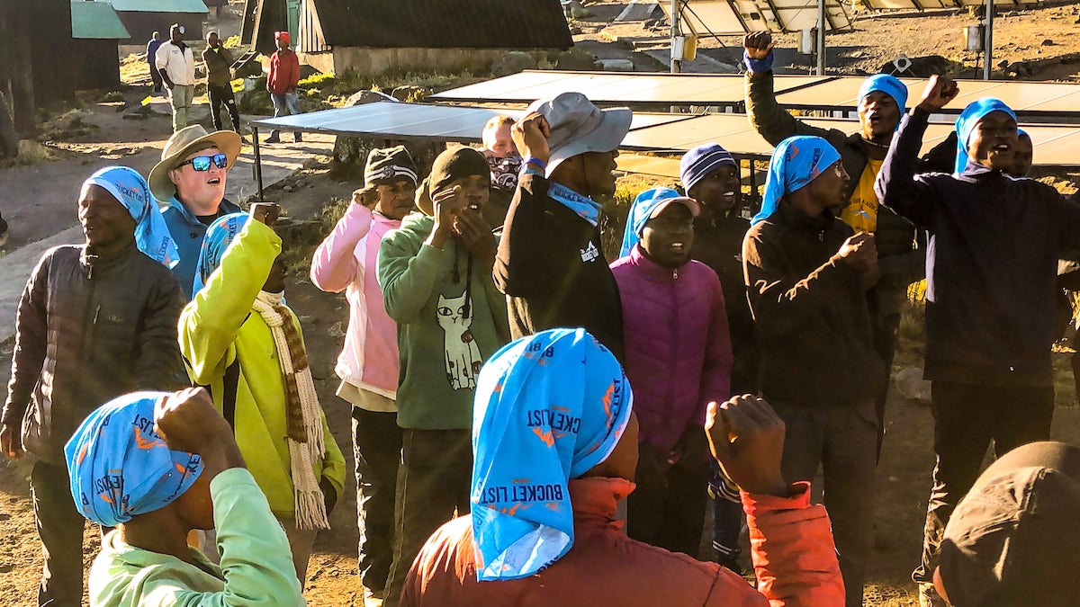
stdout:
<svg viewBox="0 0 1080 607">
<path fill-rule="evenodd" d="M 325 53 L 301 53 L 300 62 L 322 72 L 377 75 L 390 70 L 483 71 L 507 49 L 370 49 L 335 46 Z"/>
</svg>

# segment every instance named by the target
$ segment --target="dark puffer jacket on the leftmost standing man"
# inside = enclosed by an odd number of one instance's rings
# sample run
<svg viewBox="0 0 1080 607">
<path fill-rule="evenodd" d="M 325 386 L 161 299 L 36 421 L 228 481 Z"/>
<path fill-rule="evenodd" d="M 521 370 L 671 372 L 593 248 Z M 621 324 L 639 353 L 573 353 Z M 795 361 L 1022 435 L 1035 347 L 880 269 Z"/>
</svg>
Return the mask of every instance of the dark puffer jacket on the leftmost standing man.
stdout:
<svg viewBox="0 0 1080 607">
<path fill-rule="evenodd" d="M 180 285 L 132 245 L 108 259 L 48 251 L 26 283 L 2 421 L 27 451 L 64 464 L 64 444 L 109 400 L 168 390 L 181 370 Z"/>
</svg>

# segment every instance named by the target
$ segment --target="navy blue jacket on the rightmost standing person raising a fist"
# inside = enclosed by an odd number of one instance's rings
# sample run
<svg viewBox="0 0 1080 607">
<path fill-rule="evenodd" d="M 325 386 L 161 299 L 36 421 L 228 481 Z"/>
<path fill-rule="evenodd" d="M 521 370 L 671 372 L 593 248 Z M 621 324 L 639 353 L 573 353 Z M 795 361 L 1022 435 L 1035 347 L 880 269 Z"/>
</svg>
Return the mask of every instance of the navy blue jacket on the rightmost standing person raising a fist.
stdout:
<svg viewBox="0 0 1080 607">
<path fill-rule="evenodd" d="M 903 118 L 875 185 L 881 204 L 930 232 L 926 377 L 1050 386 L 1057 259 L 1080 246 L 1080 206 L 974 163 L 916 175 L 928 118 Z"/>
</svg>

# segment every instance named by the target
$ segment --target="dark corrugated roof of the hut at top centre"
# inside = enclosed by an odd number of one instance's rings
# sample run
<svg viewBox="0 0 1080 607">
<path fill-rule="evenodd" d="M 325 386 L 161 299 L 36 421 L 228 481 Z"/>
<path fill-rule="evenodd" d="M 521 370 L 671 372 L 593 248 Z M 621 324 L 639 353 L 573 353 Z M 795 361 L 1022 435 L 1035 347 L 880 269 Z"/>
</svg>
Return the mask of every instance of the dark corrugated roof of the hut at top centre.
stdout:
<svg viewBox="0 0 1080 607">
<path fill-rule="evenodd" d="M 569 49 L 558 0 L 311 0 L 332 46 Z"/>
</svg>

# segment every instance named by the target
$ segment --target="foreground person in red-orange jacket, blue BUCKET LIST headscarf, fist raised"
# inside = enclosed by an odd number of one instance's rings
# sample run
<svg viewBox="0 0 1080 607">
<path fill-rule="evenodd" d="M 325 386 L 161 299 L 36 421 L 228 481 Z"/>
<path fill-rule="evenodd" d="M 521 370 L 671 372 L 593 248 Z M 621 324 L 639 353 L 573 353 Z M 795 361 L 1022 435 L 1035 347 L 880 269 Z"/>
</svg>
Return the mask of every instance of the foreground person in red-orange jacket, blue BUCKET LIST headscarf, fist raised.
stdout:
<svg viewBox="0 0 1080 607">
<path fill-rule="evenodd" d="M 402 605 L 787 605 L 843 601 L 828 515 L 780 473 L 784 424 L 768 404 L 710 405 L 712 450 L 745 489 L 758 591 L 685 554 L 630 539 L 637 419 L 618 361 L 584 329 L 521 338 L 481 372 L 469 516 L 413 564 Z"/>
</svg>

